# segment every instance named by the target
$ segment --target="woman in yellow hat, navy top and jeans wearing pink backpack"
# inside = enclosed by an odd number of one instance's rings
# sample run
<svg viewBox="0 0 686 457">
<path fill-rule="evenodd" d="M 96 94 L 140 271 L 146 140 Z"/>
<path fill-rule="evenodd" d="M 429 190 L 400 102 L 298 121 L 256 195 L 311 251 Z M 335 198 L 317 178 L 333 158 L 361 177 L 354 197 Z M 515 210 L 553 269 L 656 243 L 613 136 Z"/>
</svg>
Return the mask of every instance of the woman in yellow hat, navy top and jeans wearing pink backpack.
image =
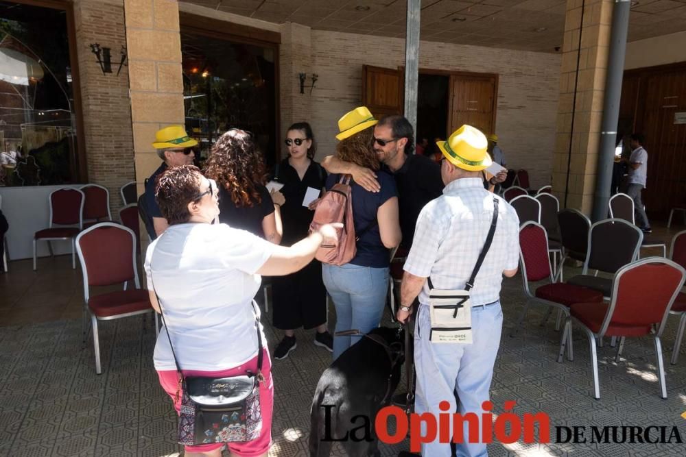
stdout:
<svg viewBox="0 0 686 457">
<path fill-rule="evenodd" d="M 348 263 L 336 266 L 324 264 L 324 286 L 336 308 L 336 332 L 359 330 L 366 334 L 379 326 L 388 293 L 388 249 L 400 244 L 402 234 L 398 215 L 398 197 L 391 175 L 379 170 L 379 160 L 372 149 L 375 140 L 373 126 L 377 120 L 360 106 L 338 121 L 336 158 L 375 170 L 380 189 L 370 192 L 351 180 L 353 219 L 357 235 L 357 253 Z M 341 175 L 327 178 L 327 189 L 339 182 Z M 333 360 L 359 336 L 335 336 Z"/>
</svg>

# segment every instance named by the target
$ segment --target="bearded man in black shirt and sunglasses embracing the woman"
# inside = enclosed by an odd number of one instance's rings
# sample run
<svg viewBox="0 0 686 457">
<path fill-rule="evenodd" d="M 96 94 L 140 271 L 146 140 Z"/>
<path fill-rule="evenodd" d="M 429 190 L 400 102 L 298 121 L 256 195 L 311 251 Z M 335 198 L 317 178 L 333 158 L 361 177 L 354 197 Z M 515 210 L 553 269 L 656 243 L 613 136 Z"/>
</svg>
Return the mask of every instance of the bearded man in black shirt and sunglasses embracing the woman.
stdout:
<svg viewBox="0 0 686 457">
<path fill-rule="evenodd" d="M 433 160 L 414 154 L 412 124 L 403 116 L 383 117 L 374 127 L 374 144 L 381 169 L 395 178 L 398 188 L 400 228 L 403 232 L 401 247 L 410 249 L 414 225 L 419 212 L 429 201 L 439 197 L 443 190 L 440 165 Z M 370 192 L 379 192 L 374 171 L 327 156 L 322 166 L 329 173 L 347 173 Z"/>
</svg>

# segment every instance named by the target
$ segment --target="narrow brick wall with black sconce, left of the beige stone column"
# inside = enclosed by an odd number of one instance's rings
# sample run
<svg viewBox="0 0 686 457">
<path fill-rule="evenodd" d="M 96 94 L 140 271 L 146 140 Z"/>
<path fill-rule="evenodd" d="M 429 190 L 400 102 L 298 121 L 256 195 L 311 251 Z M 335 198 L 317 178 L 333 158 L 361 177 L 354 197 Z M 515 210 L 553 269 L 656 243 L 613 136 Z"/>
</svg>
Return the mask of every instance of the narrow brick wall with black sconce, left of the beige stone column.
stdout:
<svg viewBox="0 0 686 457">
<path fill-rule="evenodd" d="M 126 46 L 123 1 L 75 0 L 74 19 L 88 182 L 108 188 L 110 209 L 117 219 L 119 188 L 134 180 L 126 66 L 117 75 L 119 51 Z M 88 46 L 95 42 L 112 49 L 113 73 L 102 73 Z"/>
</svg>

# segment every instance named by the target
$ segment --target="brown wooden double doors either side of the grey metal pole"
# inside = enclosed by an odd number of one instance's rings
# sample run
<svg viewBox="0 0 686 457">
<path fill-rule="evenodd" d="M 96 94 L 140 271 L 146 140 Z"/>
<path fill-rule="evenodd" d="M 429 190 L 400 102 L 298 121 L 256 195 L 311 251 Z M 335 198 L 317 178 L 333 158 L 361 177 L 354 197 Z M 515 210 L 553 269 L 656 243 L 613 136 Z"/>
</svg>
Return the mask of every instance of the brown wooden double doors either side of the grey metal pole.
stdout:
<svg viewBox="0 0 686 457">
<path fill-rule="evenodd" d="M 375 116 L 403 114 L 404 69 L 365 65 L 362 72 L 364 106 Z M 442 75 L 447 78 L 445 136 L 463 124 L 473 125 L 486 135 L 495 133 L 498 75 L 434 70 L 420 70 L 419 73 Z M 422 89 L 420 85 L 418 90 Z"/>
</svg>

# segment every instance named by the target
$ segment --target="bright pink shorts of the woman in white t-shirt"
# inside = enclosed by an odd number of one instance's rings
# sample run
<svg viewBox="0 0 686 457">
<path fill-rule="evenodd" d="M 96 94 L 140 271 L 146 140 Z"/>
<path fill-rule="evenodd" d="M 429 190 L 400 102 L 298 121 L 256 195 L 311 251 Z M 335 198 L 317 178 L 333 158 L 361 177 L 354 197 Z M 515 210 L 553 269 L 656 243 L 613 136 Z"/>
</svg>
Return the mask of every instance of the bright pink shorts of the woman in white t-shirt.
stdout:
<svg viewBox="0 0 686 457">
<path fill-rule="evenodd" d="M 262 411 L 262 431 L 257 439 L 247 441 L 246 443 L 215 443 L 204 444 L 198 446 L 185 446 L 186 452 L 210 452 L 215 449 L 220 449 L 224 444 L 228 446 L 231 454 L 245 457 L 261 456 L 268 452 L 272 444 L 272 409 L 274 407 L 274 382 L 272 382 L 272 361 L 269 358 L 268 349 L 264 350 L 262 362 L 262 374 L 265 382 L 260 384 L 259 388 L 259 403 Z M 208 376 L 208 377 L 224 377 L 245 374 L 246 371 L 257 371 L 257 356 L 252 358 L 243 365 L 238 367 L 222 370 L 222 371 L 194 371 L 183 370 L 183 374 L 187 376 Z M 157 371 L 160 377 L 160 384 L 165 392 L 171 397 L 171 401 L 176 399 L 176 389 L 178 388 L 178 375 L 176 370 Z M 181 393 L 178 395 L 178 402 L 174 402 L 174 408 L 178 414 L 181 406 Z"/>
</svg>

